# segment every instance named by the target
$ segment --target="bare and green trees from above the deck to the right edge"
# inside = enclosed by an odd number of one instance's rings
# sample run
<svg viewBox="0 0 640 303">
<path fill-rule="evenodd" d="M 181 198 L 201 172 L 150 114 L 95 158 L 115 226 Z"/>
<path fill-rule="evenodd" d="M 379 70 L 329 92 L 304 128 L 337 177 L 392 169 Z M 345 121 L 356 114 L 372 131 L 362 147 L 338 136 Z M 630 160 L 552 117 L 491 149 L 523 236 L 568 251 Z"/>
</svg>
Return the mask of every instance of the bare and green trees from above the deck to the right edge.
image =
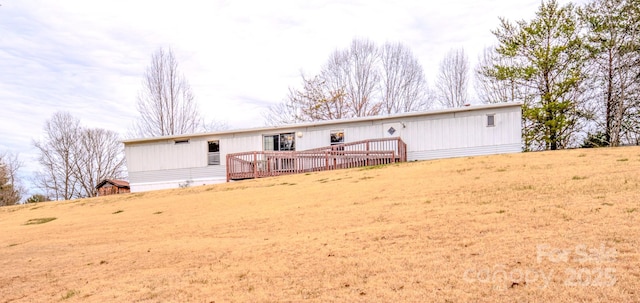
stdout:
<svg viewBox="0 0 640 303">
<path fill-rule="evenodd" d="M 640 1 L 543 1 L 531 20 L 500 18 L 473 70 L 481 103 L 523 105 L 526 151 L 640 142 Z M 463 48 L 441 60 L 430 89 L 403 44 L 354 39 L 301 88 L 269 108 L 269 124 L 410 112 L 469 103 Z M 437 100 L 437 102 L 434 102 Z"/>
</svg>

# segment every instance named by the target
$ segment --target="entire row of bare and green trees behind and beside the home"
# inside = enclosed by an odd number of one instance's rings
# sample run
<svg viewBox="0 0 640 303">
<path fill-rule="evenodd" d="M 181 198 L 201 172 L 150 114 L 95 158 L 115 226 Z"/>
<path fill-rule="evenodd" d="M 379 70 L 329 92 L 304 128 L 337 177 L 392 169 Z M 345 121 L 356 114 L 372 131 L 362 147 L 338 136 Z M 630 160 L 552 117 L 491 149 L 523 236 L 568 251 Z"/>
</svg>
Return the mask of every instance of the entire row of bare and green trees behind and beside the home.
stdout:
<svg viewBox="0 0 640 303">
<path fill-rule="evenodd" d="M 640 144 L 640 0 L 593 0 L 576 6 L 543 1 L 531 20 L 500 18 L 498 43 L 471 70 L 463 48 L 440 61 L 432 89 L 402 43 L 354 39 L 332 52 L 316 75 L 301 73 L 284 101 L 265 111 L 268 124 L 310 122 L 460 107 L 469 103 L 470 74 L 481 103 L 523 103 L 525 151 Z M 171 51 L 158 49 L 139 91 L 129 137 L 211 131 Z M 25 202 L 96 195 L 105 178 L 125 175 L 119 134 L 87 128 L 66 112 L 45 123 L 34 141 L 42 193 Z M 0 154 L 0 205 L 26 193 L 18 156 Z"/>
</svg>

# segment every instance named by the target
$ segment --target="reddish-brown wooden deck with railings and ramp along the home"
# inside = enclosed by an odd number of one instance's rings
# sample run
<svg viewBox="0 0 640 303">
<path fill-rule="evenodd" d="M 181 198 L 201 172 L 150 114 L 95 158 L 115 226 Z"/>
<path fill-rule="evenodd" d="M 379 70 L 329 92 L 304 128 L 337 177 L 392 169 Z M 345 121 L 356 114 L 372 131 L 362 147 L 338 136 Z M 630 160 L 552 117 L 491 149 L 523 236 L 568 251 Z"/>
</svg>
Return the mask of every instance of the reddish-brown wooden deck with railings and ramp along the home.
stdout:
<svg viewBox="0 0 640 303">
<path fill-rule="evenodd" d="M 227 182 L 407 161 L 400 138 L 372 139 L 305 151 L 228 154 Z"/>
</svg>

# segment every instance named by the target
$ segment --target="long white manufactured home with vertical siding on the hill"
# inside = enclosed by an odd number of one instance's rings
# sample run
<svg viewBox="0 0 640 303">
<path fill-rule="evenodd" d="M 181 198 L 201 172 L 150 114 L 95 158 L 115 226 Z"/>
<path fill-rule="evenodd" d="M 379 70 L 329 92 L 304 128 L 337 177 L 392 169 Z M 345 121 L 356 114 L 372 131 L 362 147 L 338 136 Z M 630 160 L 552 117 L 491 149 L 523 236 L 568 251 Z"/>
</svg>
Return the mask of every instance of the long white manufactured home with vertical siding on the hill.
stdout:
<svg viewBox="0 0 640 303">
<path fill-rule="evenodd" d="M 392 153 L 394 161 L 517 153 L 522 150 L 521 105 L 478 105 L 390 116 L 126 140 L 124 145 L 130 187 L 132 192 L 141 192 L 225 182 L 230 179 L 230 166 L 237 165 L 232 164 L 230 158 L 238 153 L 249 156 L 249 160 L 238 161 L 246 162 L 253 172 L 257 172 L 259 166 L 251 159 L 257 159 L 257 154 L 264 152 L 282 157 L 300 151 L 322 151 L 323 147 L 328 147 L 329 151 L 343 151 L 344 146 L 366 141 L 366 153 L 369 155 L 373 151 L 369 152 L 367 140 L 379 141 L 385 138 L 402 142 L 396 143 L 392 148 L 395 148 Z M 403 146 L 401 149 L 399 144 Z M 325 157 L 326 161 L 322 160 Z M 320 158 L 320 165 L 329 167 L 329 152 Z M 332 159 L 335 164 L 335 158 Z M 294 164 L 284 163 L 282 159 L 278 161 L 266 166 L 270 167 L 270 171 L 275 171 Z"/>
</svg>

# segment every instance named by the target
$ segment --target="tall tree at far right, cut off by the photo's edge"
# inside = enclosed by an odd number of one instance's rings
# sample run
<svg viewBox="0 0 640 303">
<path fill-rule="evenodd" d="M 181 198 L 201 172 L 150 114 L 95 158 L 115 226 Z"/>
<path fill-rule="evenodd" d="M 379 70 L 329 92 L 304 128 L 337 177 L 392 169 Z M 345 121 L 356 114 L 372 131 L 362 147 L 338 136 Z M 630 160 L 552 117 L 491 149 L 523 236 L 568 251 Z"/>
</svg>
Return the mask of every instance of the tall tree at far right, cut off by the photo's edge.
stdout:
<svg viewBox="0 0 640 303">
<path fill-rule="evenodd" d="M 597 108 L 604 143 L 637 144 L 640 119 L 640 9 L 638 1 L 596 0 L 579 10 L 594 70 L 591 79 L 601 102 Z"/>
</svg>

